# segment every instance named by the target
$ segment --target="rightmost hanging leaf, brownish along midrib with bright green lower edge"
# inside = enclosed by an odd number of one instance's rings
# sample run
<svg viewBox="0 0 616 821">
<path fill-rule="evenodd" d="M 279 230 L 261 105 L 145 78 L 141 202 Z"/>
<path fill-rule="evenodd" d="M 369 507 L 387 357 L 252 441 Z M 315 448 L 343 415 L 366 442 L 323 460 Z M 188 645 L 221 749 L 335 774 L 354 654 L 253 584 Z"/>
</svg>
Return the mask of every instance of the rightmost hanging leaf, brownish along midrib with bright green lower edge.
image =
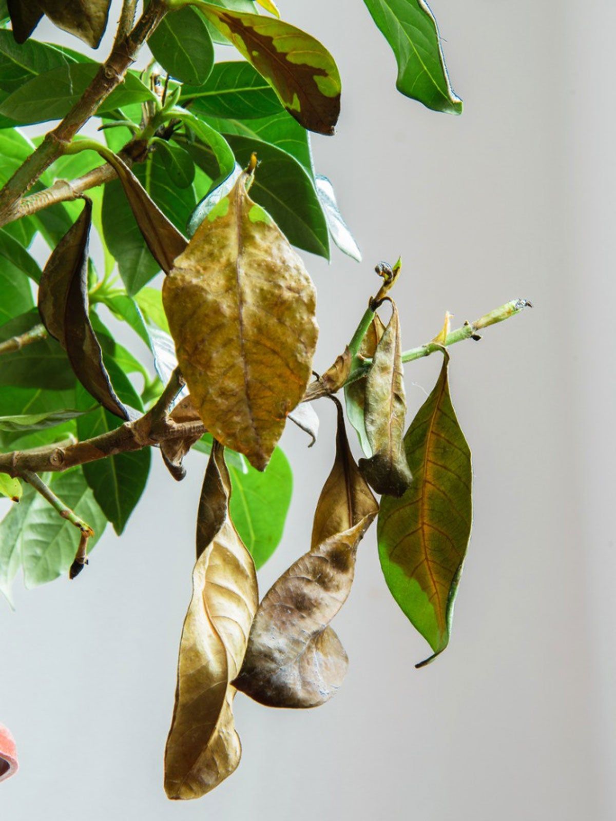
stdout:
<svg viewBox="0 0 616 821">
<path fill-rule="evenodd" d="M 381 500 L 379 557 L 393 598 L 434 650 L 422 667 L 447 647 L 471 537 L 471 452 L 449 396 L 448 356 L 404 446 L 413 480 L 402 498 Z"/>
</svg>

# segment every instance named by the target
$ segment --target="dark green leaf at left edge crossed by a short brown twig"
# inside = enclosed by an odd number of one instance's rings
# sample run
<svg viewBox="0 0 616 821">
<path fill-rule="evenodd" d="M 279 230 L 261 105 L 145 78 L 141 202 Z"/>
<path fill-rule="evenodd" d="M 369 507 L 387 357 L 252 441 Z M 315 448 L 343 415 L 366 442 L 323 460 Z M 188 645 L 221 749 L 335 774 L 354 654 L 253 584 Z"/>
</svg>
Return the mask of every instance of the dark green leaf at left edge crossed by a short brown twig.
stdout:
<svg viewBox="0 0 616 821">
<path fill-rule="evenodd" d="M 0 327 L 0 342 L 20 336 L 40 323 L 39 312 L 31 310 Z M 2 354 L 0 386 L 16 388 L 51 388 L 63 390 L 75 383 L 67 355 L 55 339 L 47 337 L 40 342 L 25 345 L 21 351 Z"/>
</svg>

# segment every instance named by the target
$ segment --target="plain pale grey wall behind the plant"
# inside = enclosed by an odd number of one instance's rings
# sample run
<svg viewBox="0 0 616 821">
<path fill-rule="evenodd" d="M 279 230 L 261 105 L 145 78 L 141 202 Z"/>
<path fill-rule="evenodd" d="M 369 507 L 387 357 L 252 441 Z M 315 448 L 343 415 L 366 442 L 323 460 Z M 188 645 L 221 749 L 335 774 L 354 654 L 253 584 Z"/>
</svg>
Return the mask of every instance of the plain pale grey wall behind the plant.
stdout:
<svg viewBox="0 0 616 821">
<path fill-rule="evenodd" d="M 536 305 L 452 351 L 476 472 L 452 644 L 414 669 L 426 647 L 385 588 L 371 531 L 335 624 L 351 658 L 341 692 L 305 713 L 238 696 L 237 773 L 205 799 L 169 803 L 163 745 L 205 463 L 191 456 L 177 485 L 154 459 L 122 539 L 105 534 L 78 582 L 18 583 L 16 612 L 0 610 L 0 719 L 21 758 L 0 787 L 2 818 L 608 821 L 614 3 L 434 0 L 462 117 L 396 92 L 360 0 L 280 5 L 338 60 L 338 135 L 315 138 L 315 160 L 365 257 L 307 260 L 317 367 L 349 339 L 372 266 L 400 253 L 405 346 L 434 336 L 446 309 L 457 324 L 516 296 Z M 411 413 L 438 368 L 435 357 L 407 367 Z M 308 545 L 333 458 L 332 408 L 318 410 L 311 451 L 299 431 L 284 435 L 295 493 L 262 591 Z"/>
</svg>

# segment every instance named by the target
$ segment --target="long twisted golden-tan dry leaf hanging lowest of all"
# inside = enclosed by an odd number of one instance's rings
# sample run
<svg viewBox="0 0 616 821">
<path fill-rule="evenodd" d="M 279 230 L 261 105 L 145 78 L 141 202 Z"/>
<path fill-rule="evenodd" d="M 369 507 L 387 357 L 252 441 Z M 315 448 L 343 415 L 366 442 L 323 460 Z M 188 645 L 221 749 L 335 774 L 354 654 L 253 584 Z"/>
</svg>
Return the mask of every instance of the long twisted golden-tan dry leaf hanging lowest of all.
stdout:
<svg viewBox="0 0 616 821">
<path fill-rule="evenodd" d="M 230 776 L 241 745 L 231 682 L 246 651 L 258 593 L 255 565 L 228 514 L 231 484 L 223 448 L 214 443 L 197 519 L 197 561 L 177 667 L 165 750 L 169 798 L 199 798 Z"/>
</svg>

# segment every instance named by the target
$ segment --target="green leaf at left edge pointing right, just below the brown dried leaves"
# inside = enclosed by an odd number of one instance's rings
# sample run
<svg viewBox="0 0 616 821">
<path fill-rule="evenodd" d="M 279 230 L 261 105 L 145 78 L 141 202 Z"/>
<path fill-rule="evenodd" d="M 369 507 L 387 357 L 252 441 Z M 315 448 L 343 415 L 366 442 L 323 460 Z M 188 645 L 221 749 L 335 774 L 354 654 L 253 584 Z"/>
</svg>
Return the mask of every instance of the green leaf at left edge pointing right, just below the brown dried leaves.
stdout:
<svg viewBox="0 0 616 821">
<path fill-rule="evenodd" d="M 48 43 L 28 40 L 18 45 L 11 31 L 0 30 L 0 89 L 9 93 L 39 74 L 74 62 L 91 62 L 88 57 Z"/>
</svg>

